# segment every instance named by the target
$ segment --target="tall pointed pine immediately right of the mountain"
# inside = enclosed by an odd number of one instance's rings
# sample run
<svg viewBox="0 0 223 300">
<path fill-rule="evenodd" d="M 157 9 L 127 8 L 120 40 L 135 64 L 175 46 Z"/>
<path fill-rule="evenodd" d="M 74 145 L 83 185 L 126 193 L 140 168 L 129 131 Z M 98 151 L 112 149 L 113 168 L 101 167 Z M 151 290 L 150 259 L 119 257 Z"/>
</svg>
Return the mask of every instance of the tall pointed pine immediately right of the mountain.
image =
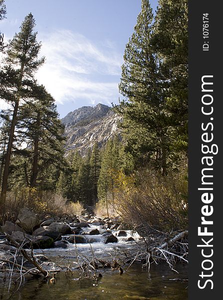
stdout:
<svg viewBox="0 0 223 300">
<path fill-rule="evenodd" d="M 116 106 L 123 114 L 121 127 L 126 151 L 138 164 L 153 161 L 163 173 L 167 168 L 167 117 L 160 77 L 159 57 L 152 44 L 153 13 L 142 0 L 135 31 L 126 45 L 120 92 L 127 98 Z"/>
</svg>

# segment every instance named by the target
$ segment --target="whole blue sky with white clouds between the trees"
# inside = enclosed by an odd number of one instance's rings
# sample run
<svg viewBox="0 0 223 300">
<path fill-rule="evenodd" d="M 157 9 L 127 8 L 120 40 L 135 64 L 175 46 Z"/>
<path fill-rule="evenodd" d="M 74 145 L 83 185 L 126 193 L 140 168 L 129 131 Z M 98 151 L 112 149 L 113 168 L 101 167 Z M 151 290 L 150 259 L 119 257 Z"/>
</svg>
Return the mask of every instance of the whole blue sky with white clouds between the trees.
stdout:
<svg viewBox="0 0 223 300">
<path fill-rule="evenodd" d="M 125 44 L 141 0 L 5 0 L 0 31 L 11 38 L 25 15 L 36 21 L 45 64 L 36 77 L 63 117 L 83 105 L 117 103 Z M 157 0 L 151 0 L 155 11 Z M 2 104 L 0 103 L 0 106 Z"/>
</svg>

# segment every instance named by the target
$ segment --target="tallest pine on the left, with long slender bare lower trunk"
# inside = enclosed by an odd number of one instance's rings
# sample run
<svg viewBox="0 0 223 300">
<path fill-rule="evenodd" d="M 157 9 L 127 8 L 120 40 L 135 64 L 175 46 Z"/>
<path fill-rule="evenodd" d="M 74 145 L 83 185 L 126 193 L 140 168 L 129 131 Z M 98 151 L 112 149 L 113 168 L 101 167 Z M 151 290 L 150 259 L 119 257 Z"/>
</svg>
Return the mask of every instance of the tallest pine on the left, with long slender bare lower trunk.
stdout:
<svg viewBox="0 0 223 300">
<path fill-rule="evenodd" d="M 34 26 L 33 15 L 29 13 L 20 26 L 20 32 L 14 35 L 8 45 L 5 64 L 0 72 L 0 97 L 13 105 L 0 195 L 2 210 L 7 190 L 9 163 L 19 102 L 20 99 L 25 100 L 29 96 L 27 85 L 30 80 L 33 80 L 37 68 L 44 62 L 44 58 L 37 58 L 41 45 L 36 41 L 37 32 L 33 32 Z"/>
</svg>

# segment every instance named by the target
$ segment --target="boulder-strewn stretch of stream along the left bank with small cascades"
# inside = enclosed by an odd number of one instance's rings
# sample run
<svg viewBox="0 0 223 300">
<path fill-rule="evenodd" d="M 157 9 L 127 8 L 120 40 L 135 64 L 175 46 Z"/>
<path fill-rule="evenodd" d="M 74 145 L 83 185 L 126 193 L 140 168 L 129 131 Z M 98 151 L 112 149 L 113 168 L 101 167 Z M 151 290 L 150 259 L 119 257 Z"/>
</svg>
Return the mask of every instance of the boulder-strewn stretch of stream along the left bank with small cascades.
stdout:
<svg viewBox="0 0 223 300">
<path fill-rule="evenodd" d="M 0 249 L 15 251 L 10 240 L 23 248 L 67 248 L 70 243 L 116 243 L 122 237 L 133 241 L 133 232 L 119 218 L 96 217 L 87 209 L 81 215 L 39 218 L 28 208 L 20 209 L 15 223 L 5 221 L 0 233 Z"/>
</svg>

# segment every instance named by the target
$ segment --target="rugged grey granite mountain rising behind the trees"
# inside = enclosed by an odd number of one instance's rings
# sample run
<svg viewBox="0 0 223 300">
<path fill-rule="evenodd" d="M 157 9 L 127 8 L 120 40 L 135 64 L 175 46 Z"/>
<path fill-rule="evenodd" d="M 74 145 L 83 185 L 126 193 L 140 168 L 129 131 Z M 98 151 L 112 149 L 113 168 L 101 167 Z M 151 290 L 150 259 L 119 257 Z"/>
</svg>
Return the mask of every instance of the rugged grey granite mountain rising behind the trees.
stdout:
<svg viewBox="0 0 223 300">
<path fill-rule="evenodd" d="M 120 116 L 104 104 L 83 106 L 69 112 L 61 119 L 65 125 L 66 153 L 78 149 L 82 155 L 92 148 L 95 141 L 102 146 L 112 135 L 119 133 Z"/>
</svg>

